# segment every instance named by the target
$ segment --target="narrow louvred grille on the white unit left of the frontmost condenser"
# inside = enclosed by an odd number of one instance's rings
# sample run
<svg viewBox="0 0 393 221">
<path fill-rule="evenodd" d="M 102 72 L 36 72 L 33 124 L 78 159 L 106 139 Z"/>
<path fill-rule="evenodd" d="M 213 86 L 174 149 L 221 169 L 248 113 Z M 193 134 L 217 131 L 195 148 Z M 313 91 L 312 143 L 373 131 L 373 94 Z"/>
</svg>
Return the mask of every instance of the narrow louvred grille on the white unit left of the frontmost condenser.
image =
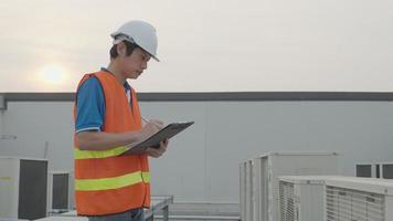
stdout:
<svg viewBox="0 0 393 221">
<path fill-rule="evenodd" d="M 294 183 L 279 181 L 279 207 L 282 221 L 295 221 Z"/>
</svg>

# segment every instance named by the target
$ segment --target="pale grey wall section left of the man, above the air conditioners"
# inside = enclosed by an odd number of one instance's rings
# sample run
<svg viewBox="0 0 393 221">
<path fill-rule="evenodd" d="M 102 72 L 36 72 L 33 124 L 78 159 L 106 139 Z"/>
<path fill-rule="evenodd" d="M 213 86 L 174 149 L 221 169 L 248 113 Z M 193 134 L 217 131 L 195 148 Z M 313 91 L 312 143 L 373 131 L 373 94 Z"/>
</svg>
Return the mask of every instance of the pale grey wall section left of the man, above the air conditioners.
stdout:
<svg viewBox="0 0 393 221">
<path fill-rule="evenodd" d="M 50 170 L 73 170 L 73 104 L 71 102 L 10 102 L 3 114 L 0 155 L 44 158 L 49 143 Z"/>
</svg>

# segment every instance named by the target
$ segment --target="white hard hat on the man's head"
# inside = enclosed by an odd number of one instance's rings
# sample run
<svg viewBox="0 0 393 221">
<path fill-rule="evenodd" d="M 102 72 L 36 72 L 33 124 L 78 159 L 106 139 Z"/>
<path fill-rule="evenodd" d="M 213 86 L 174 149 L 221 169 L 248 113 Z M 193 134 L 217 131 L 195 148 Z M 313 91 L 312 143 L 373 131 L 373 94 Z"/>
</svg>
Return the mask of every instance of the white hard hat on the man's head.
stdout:
<svg viewBox="0 0 393 221">
<path fill-rule="evenodd" d="M 156 29 L 145 21 L 129 21 L 111 33 L 110 36 L 114 38 L 114 44 L 124 40 L 129 41 L 142 48 L 156 61 L 160 61 L 157 57 Z"/>
</svg>

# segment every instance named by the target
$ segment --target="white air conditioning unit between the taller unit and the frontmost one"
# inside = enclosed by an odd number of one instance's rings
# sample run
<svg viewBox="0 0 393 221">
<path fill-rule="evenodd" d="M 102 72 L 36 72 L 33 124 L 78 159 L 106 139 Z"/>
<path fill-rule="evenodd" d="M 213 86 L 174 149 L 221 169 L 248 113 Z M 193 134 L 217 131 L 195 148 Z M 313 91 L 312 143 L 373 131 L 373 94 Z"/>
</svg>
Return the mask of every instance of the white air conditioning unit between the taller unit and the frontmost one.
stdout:
<svg viewBox="0 0 393 221">
<path fill-rule="evenodd" d="M 325 214 L 325 180 L 332 177 L 279 177 L 279 220 L 322 221 Z"/>
</svg>

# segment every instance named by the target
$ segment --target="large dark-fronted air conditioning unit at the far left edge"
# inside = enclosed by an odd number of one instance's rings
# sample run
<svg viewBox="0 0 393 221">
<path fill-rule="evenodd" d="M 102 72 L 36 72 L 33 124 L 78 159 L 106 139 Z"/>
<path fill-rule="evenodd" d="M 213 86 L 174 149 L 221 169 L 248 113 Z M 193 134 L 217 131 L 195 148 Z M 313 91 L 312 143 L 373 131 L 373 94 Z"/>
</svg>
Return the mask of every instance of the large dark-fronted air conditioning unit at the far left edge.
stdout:
<svg viewBox="0 0 393 221">
<path fill-rule="evenodd" d="M 0 157 L 0 218 L 46 217 L 47 160 Z"/>
</svg>

